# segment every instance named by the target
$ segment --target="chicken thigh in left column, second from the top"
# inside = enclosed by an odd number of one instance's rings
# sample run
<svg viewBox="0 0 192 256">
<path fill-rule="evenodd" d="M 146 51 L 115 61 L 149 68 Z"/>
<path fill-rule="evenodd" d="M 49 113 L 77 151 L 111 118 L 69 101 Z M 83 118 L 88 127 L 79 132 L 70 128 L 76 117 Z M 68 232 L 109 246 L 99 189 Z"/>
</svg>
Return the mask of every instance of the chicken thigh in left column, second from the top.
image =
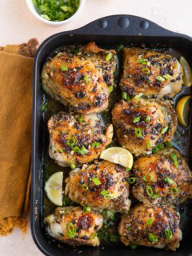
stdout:
<svg viewBox="0 0 192 256">
<path fill-rule="evenodd" d="M 54 114 L 48 122 L 50 157 L 59 166 L 81 166 L 97 159 L 110 144 L 113 126 L 107 125 L 97 114 Z"/>
</svg>

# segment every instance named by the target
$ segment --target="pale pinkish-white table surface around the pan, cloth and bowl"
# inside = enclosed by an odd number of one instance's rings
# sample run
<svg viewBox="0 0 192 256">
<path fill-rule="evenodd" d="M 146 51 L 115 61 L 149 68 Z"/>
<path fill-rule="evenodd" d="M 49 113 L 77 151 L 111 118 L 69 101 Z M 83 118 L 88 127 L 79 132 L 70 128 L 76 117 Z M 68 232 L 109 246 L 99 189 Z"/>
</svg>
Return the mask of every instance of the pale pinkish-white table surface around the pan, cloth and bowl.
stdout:
<svg viewBox="0 0 192 256">
<path fill-rule="evenodd" d="M 38 38 L 38 41 L 42 42 L 51 34 L 74 30 L 111 14 L 138 15 L 168 30 L 192 36 L 191 0 L 86 0 L 86 5 L 78 18 L 58 27 L 47 26 L 34 18 L 27 9 L 25 0 L 0 0 L 0 46 L 27 42 L 30 38 Z M 30 224 L 25 239 L 19 230 L 14 230 L 14 233 L 6 238 L 0 238 L 0 255 L 42 255 L 34 245 Z"/>
</svg>

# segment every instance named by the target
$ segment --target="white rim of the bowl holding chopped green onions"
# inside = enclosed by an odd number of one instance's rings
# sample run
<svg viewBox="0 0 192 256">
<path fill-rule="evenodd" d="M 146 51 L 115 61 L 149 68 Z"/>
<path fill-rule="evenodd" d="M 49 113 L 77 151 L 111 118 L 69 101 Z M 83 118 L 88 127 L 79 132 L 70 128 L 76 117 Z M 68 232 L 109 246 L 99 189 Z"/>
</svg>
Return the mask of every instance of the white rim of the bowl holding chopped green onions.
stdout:
<svg viewBox="0 0 192 256">
<path fill-rule="evenodd" d="M 41 22 L 44 22 L 51 26 L 61 26 L 63 24 L 66 24 L 67 22 L 72 21 L 74 18 L 76 18 L 78 16 L 78 14 L 82 11 L 82 8 L 83 8 L 85 2 L 86 2 L 86 0 L 80 0 L 78 10 L 76 11 L 76 13 L 74 15 L 72 15 L 70 18 L 67 18 L 62 22 L 52 22 L 52 21 L 47 21 L 45 18 L 42 18 L 35 10 L 32 0 L 26 0 L 26 5 L 30 9 L 30 12 L 32 14 L 34 14 L 34 17 L 38 18 L 38 20 L 40 20 Z"/>
</svg>

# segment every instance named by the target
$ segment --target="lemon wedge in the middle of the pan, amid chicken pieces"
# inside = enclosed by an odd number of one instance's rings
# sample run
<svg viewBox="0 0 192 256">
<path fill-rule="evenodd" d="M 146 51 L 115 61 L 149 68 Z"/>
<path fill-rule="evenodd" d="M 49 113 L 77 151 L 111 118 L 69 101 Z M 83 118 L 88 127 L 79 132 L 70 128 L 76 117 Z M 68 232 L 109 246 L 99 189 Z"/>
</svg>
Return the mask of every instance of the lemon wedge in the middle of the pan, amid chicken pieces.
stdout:
<svg viewBox="0 0 192 256">
<path fill-rule="evenodd" d="M 114 146 L 102 151 L 100 158 L 109 162 L 118 163 L 121 166 L 132 168 L 134 163 L 133 155 L 129 150 Z"/>
</svg>

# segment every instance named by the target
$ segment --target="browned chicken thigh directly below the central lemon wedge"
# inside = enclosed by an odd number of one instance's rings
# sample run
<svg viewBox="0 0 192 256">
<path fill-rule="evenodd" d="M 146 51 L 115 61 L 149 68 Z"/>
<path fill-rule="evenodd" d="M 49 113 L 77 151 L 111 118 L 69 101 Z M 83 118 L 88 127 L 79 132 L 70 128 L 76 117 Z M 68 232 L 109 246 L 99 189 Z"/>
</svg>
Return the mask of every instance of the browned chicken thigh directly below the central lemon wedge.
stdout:
<svg viewBox="0 0 192 256">
<path fill-rule="evenodd" d="M 128 177 L 123 166 L 108 161 L 96 162 L 71 171 L 66 178 L 65 193 L 82 206 L 125 213 L 130 209 Z"/>
</svg>

